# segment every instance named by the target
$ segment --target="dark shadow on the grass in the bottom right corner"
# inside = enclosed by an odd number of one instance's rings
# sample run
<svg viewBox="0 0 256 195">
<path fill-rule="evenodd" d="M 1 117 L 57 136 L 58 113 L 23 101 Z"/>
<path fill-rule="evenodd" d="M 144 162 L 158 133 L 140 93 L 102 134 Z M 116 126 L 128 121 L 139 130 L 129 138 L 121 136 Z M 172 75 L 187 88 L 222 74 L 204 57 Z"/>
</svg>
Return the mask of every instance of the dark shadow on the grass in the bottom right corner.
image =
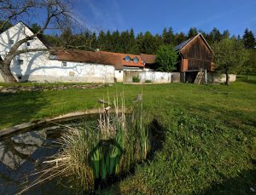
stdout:
<svg viewBox="0 0 256 195">
<path fill-rule="evenodd" d="M 220 174 L 221 175 L 221 174 Z M 256 169 L 248 169 L 234 178 L 225 178 L 223 182 L 212 184 L 201 194 L 255 194 Z M 254 191 L 254 192 L 253 192 Z"/>
</svg>

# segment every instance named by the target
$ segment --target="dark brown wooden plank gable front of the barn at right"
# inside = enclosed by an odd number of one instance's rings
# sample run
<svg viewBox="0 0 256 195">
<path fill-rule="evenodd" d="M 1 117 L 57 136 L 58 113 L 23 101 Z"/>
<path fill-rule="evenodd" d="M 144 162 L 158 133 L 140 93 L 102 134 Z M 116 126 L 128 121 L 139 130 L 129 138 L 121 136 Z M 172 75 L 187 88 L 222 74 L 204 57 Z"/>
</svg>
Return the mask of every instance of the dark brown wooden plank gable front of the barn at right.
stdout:
<svg viewBox="0 0 256 195">
<path fill-rule="evenodd" d="M 206 39 L 198 34 L 177 47 L 180 55 L 179 67 L 180 72 L 214 71 L 213 52 Z"/>
</svg>

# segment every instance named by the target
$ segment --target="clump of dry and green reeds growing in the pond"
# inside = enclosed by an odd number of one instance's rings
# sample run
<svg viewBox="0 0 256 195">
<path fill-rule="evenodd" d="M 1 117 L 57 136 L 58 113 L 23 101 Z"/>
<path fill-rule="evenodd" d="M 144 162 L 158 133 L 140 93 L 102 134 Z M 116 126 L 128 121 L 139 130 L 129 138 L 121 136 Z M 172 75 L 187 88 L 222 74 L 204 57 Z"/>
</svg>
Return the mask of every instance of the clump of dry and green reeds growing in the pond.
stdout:
<svg viewBox="0 0 256 195">
<path fill-rule="evenodd" d="M 24 190 L 43 181 L 67 177 L 75 188 L 91 191 L 96 180 L 128 172 L 143 161 L 150 149 L 148 125 L 142 102 L 125 113 L 124 100 L 114 100 L 114 114 L 99 111 L 100 118 L 91 127 L 82 125 L 64 133 L 58 143 L 61 150 L 45 161 L 46 168 Z"/>
</svg>

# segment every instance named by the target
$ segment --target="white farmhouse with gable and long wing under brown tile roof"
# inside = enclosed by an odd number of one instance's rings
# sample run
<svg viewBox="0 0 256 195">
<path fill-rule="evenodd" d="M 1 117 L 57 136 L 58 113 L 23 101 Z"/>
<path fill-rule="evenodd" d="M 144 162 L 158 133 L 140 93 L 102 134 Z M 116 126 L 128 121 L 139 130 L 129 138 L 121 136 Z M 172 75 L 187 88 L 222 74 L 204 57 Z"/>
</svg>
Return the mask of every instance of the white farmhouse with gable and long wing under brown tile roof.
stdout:
<svg viewBox="0 0 256 195">
<path fill-rule="evenodd" d="M 0 60 L 4 60 L 13 44 L 32 31 L 22 22 L 0 34 Z M 35 37 L 23 43 L 19 49 L 48 49 L 44 41 Z M 114 66 L 119 66 L 119 58 L 75 49 L 37 51 L 19 54 L 12 60 L 10 70 L 18 82 L 84 82 L 113 83 Z M 3 77 L 0 75 L 0 82 Z"/>
</svg>

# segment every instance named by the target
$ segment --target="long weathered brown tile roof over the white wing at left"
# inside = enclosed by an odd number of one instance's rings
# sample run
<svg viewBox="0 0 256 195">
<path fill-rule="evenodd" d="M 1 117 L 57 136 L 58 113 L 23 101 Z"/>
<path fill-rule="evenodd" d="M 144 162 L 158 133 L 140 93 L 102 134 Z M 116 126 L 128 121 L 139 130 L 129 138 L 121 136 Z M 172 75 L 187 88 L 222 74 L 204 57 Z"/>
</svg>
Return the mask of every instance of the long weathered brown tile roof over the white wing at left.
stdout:
<svg viewBox="0 0 256 195">
<path fill-rule="evenodd" d="M 92 52 L 79 49 L 54 49 L 52 54 L 57 56 L 56 60 L 113 65 L 115 69 L 123 69 L 122 60 L 119 56 L 105 52 Z"/>
</svg>

